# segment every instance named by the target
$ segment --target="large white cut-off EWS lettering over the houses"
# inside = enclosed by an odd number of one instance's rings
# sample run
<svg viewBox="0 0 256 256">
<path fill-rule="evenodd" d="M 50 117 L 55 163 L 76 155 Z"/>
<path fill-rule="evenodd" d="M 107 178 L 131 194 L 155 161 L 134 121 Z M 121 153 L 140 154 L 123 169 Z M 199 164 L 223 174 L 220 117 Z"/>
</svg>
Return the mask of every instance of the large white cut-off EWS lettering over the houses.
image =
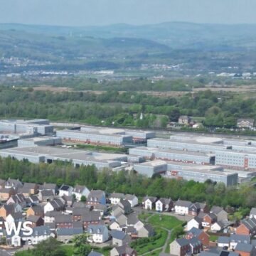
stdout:
<svg viewBox="0 0 256 256">
<path fill-rule="evenodd" d="M 18 223 L 7 223 L 6 221 L 0 221 L 0 236 L 4 235 L 3 226 L 6 230 L 6 235 L 18 235 L 19 233 L 21 233 L 21 231 L 25 236 L 32 235 L 33 228 L 31 228 L 31 225 L 31 221 L 19 221 Z"/>
</svg>

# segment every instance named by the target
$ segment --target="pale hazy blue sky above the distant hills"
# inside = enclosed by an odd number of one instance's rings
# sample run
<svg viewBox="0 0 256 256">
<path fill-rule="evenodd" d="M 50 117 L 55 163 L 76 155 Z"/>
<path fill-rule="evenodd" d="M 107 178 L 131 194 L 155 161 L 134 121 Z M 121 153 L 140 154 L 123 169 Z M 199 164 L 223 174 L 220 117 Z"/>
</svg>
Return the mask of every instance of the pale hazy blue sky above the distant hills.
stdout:
<svg viewBox="0 0 256 256">
<path fill-rule="evenodd" d="M 0 0 L 0 23 L 256 23 L 256 0 Z"/>
</svg>

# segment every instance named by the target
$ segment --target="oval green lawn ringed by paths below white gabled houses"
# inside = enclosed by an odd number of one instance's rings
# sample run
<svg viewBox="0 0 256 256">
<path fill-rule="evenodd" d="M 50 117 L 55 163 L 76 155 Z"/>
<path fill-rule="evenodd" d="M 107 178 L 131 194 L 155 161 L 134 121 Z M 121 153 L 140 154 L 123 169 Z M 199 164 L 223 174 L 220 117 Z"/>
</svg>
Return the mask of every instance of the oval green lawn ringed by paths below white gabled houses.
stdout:
<svg viewBox="0 0 256 256">
<path fill-rule="evenodd" d="M 178 225 L 182 225 L 183 221 L 178 220 L 174 216 L 154 214 L 149 218 L 149 223 L 154 227 L 167 228 L 171 230 Z"/>
</svg>

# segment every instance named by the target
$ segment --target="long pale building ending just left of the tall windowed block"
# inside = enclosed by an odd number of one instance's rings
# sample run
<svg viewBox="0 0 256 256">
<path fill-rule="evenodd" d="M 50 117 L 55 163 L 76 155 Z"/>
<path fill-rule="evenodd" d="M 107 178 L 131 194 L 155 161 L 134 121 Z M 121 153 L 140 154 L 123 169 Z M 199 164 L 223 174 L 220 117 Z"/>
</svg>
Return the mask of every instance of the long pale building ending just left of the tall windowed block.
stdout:
<svg viewBox="0 0 256 256">
<path fill-rule="evenodd" d="M 129 154 L 144 156 L 146 159 L 161 159 L 165 161 L 178 161 L 188 164 L 215 164 L 215 156 L 195 151 L 182 151 L 174 149 L 158 149 L 139 146 L 129 149 Z"/>
</svg>

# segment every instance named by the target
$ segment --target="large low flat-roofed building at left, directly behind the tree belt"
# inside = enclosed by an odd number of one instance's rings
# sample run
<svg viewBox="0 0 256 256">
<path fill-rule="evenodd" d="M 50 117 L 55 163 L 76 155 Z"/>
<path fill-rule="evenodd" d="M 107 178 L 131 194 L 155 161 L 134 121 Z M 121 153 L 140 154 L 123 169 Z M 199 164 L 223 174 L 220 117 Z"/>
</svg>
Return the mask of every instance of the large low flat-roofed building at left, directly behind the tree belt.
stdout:
<svg viewBox="0 0 256 256">
<path fill-rule="evenodd" d="M 127 162 L 125 154 L 105 154 L 76 149 L 62 149 L 53 146 L 31 146 L 25 148 L 13 148 L 0 150 L 1 157 L 14 159 L 27 159 L 32 163 L 48 163 L 54 161 L 72 162 L 75 166 L 95 165 L 97 169 L 114 169 L 122 167 L 122 162 Z"/>
</svg>

